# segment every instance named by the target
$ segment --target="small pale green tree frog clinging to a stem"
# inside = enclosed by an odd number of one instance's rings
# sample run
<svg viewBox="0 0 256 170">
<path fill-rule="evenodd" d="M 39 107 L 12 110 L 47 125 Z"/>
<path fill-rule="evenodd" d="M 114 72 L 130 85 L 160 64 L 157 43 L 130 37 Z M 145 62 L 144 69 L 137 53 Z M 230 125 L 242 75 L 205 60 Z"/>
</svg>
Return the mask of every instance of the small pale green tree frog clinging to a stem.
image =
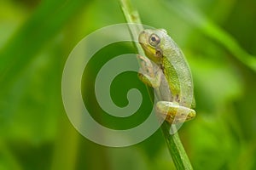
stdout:
<svg viewBox="0 0 256 170">
<path fill-rule="evenodd" d="M 138 77 L 160 93 L 155 105 L 157 115 L 170 124 L 194 119 L 192 74 L 177 43 L 164 29 L 145 29 L 138 42 L 146 55 L 137 55 L 141 61 Z"/>
</svg>

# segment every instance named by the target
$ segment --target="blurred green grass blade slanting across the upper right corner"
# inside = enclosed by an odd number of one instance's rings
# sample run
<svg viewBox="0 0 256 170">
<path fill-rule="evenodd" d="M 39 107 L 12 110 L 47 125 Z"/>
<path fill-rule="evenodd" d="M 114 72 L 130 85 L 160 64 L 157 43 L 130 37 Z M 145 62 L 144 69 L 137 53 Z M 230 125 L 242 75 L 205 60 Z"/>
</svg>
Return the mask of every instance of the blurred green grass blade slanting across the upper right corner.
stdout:
<svg viewBox="0 0 256 170">
<path fill-rule="evenodd" d="M 247 54 L 234 37 L 217 26 L 212 20 L 207 19 L 198 10 L 183 3 L 183 1 L 164 0 L 162 3 L 164 3 L 163 6 L 172 10 L 187 23 L 199 28 L 207 37 L 223 45 L 241 63 L 256 71 L 256 56 Z"/>
</svg>

